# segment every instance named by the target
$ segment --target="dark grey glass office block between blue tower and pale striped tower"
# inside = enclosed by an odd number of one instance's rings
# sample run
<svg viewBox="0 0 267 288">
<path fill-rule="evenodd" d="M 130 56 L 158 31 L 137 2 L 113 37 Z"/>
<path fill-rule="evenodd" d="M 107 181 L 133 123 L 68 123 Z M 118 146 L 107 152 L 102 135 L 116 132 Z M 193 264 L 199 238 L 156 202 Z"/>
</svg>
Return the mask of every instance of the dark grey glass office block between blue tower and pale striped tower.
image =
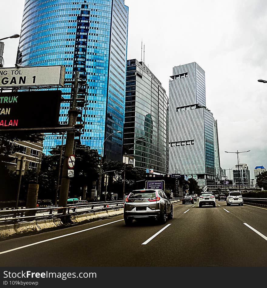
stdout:
<svg viewBox="0 0 267 288">
<path fill-rule="evenodd" d="M 144 62 L 127 60 L 123 148 L 135 166 L 168 173 L 168 97 Z"/>
</svg>

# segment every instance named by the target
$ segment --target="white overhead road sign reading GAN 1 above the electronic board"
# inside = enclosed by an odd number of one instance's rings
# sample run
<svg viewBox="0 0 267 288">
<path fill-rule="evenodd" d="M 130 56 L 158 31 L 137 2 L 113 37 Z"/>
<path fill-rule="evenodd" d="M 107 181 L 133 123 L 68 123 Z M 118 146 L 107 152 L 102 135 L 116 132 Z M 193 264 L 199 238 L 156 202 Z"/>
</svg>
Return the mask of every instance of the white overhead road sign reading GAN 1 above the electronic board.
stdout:
<svg viewBox="0 0 267 288">
<path fill-rule="evenodd" d="M 0 68 L 0 88 L 64 86 L 64 77 L 63 65 Z"/>
</svg>

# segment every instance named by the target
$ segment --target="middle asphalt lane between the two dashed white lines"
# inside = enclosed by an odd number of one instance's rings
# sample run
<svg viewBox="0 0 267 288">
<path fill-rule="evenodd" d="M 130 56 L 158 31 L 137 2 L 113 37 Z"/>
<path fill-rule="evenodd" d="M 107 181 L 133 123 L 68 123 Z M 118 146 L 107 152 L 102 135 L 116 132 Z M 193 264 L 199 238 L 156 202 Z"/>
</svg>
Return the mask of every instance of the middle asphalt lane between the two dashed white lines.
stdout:
<svg viewBox="0 0 267 288">
<path fill-rule="evenodd" d="M 144 245 L 144 259 L 153 266 L 267 266 L 266 240 L 233 213 L 197 205 L 181 215 L 165 234 Z"/>
</svg>

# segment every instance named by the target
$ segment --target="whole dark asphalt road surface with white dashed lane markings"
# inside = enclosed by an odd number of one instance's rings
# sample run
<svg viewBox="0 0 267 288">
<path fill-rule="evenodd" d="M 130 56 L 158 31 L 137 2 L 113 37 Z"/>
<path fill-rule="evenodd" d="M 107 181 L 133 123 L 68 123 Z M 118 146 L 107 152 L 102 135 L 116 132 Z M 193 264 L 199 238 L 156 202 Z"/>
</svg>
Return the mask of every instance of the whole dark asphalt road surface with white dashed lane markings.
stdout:
<svg viewBox="0 0 267 288">
<path fill-rule="evenodd" d="M 216 203 L 176 203 L 174 218 L 164 225 L 134 221 L 128 227 L 118 215 L 5 240 L 0 265 L 266 267 L 267 209 Z"/>
</svg>

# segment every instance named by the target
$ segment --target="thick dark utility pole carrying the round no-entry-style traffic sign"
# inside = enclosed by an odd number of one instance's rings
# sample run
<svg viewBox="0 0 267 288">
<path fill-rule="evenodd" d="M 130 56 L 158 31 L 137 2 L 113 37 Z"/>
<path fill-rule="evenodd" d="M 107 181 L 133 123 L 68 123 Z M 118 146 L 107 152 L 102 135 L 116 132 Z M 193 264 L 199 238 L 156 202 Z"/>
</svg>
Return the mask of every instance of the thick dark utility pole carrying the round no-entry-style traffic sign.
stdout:
<svg viewBox="0 0 267 288">
<path fill-rule="evenodd" d="M 78 94 L 78 82 L 79 82 L 79 71 L 75 71 L 75 79 L 74 79 L 74 90 L 73 90 L 73 98 L 72 105 L 68 111 L 69 114 L 69 122 L 68 126 L 74 128 L 76 123 L 77 115 L 79 111 L 76 109 L 76 100 Z M 61 185 L 60 185 L 60 194 L 59 194 L 59 206 L 65 207 L 64 209 L 59 209 L 58 213 L 66 213 L 66 205 L 69 193 L 69 177 L 68 177 L 68 158 L 73 154 L 73 146 L 74 146 L 74 138 L 75 132 L 68 131 L 66 135 L 66 145 L 65 145 L 65 154 L 64 154 L 64 162 L 62 169 L 62 177 L 61 177 Z"/>
</svg>

